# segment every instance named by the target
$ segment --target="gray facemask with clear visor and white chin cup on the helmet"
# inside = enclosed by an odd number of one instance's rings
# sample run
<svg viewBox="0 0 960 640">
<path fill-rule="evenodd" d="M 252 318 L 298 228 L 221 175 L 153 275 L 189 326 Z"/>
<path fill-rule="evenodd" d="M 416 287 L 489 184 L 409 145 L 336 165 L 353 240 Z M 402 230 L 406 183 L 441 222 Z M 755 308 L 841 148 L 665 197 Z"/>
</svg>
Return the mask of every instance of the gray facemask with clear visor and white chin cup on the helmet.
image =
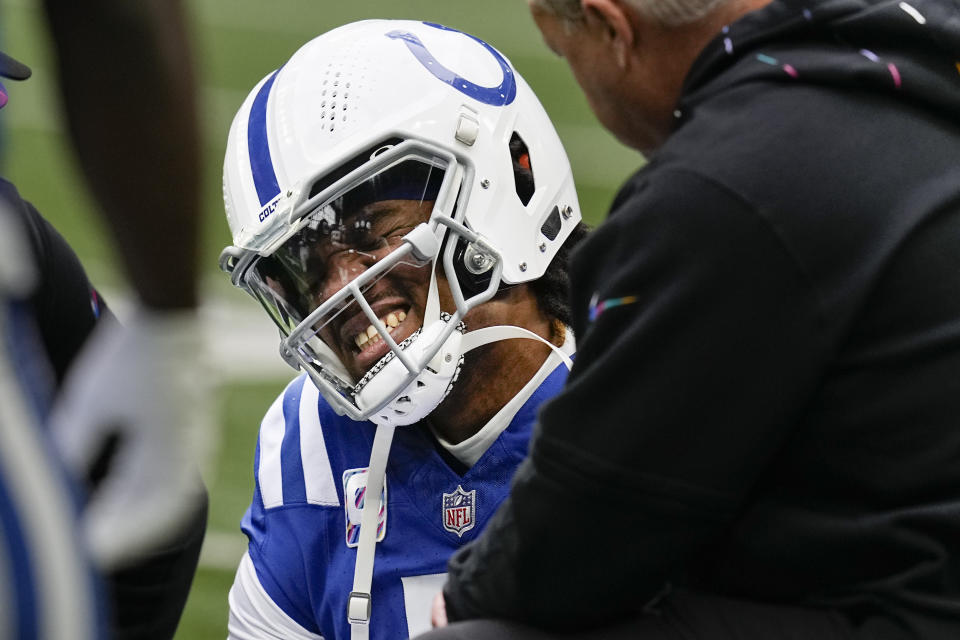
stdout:
<svg viewBox="0 0 960 640">
<path fill-rule="evenodd" d="M 298 207 L 291 232 L 266 255 L 225 251 L 235 284 L 279 327 L 284 358 L 338 412 L 411 424 L 456 380 L 462 318 L 494 295 L 500 273 L 496 251 L 451 215 L 472 177 L 469 165 L 427 143 L 382 147 Z M 445 235 L 453 308 L 441 311 Z M 487 289 L 469 297 L 452 268 L 465 244 L 491 273 Z"/>
</svg>

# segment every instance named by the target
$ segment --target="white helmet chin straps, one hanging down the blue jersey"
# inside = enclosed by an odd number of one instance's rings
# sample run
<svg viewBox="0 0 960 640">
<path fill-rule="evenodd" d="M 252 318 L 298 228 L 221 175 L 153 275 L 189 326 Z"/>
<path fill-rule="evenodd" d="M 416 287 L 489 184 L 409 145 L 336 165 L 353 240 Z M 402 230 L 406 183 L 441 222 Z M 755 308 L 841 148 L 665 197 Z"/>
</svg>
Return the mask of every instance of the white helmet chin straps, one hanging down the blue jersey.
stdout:
<svg viewBox="0 0 960 640">
<path fill-rule="evenodd" d="M 431 278 L 430 289 L 435 294 L 436 281 Z M 427 298 L 427 308 L 430 308 L 430 297 Z M 437 305 L 439 308 L 439 304 Z M 427 315 L 426 317 L 434 317 Z M 436 313 L 439 318 L 439 311 Z M 464 334 L 461 353 L 497 342 L 525 338 L 537 340 L 550 347 L 553 354 L 559 356 L 567 369 L 573 366 L 570 359 L 555 344 L 544 340 L 527 329 L 514 326 L 484 327 Z M 380 495 L 383 492 L 383 480 L 387 471 L 387 458 L 390 454 L 390 443 L 396 427 L 388 424 L 378 424 L 373 437 L 373 450 L 370 452 L 370 466 L 367 469 L 367 488 L 364 493 L 363 511 L 360 516 L 360 540 L 357 545 L 357 560 L 353 571 L 353 591 L 347 600 L 347 620 L 350 622 L 351 640 L 368 640 L 370 636 L 370 613 L 372 601 L 370 588 L 373 584 L 373 559 L 377 546 L 377 527 L 380 514 Z M 348 497 L 345 495 L 344 500 Z"/>
</svg>

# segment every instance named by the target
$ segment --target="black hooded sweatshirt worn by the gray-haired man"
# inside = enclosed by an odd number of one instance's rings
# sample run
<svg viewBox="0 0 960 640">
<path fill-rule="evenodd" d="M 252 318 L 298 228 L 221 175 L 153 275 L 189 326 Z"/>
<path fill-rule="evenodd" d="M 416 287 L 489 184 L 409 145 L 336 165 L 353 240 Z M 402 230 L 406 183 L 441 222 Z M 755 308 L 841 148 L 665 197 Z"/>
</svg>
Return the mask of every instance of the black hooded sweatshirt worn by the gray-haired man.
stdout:
<svg viewBox="0 0 960 640">
<path fill-rule="evenodd" d="M 960 638 L 960 5 L 776 0 L 675 115 L 574 254 L 576 363 L 450 618 L 674 584 Z"/>
</svg>

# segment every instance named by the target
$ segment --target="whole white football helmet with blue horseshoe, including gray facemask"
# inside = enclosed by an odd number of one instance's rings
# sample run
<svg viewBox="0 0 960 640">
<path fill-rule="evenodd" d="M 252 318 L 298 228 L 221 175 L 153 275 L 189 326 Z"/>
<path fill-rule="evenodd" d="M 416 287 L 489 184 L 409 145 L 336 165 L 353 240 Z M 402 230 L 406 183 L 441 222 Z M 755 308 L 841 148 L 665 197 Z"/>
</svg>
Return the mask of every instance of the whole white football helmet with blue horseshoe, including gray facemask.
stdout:
<svg viewBox="0 0 960 640">
<path fill-rule="evenodd" d="M 563 146 L 510 62 L 415 21 L 334 29 L 257 84 L 230 127 L 223 193 L 221 267 L 335 410 L 379 424 L 440 403 L 477 346 L 464 315 L 543 275 L 581 219 Z M 422 313 L 378 293 L 403 273 L 429 282 Z"/>
</svg>

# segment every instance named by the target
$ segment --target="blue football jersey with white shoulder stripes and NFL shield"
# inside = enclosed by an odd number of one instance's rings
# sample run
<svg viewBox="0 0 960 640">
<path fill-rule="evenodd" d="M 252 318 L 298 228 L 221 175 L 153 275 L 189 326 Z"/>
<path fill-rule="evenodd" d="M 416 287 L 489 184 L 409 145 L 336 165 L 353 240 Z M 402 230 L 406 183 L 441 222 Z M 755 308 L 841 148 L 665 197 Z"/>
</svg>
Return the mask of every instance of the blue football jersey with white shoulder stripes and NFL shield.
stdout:
<svg viewBox="0 0 960 640">
<path fill-rule="evenodd" d="M 554 369 L 468 470 L 458 472 L 422 425 L 397 429 L 380 496 L 371 638 L 406 638 L 408 620 L 429 618 L 447 559 L 507 497 L 538 409 L 566 376 L 565 366 Z M 347 597 L 375 429 L 335 414 L 306 376 L 261 425 L 254 496 L 241 526 L 248 553 L 270 600 L 326 640 L 350 637 Z"/>
</svg>

